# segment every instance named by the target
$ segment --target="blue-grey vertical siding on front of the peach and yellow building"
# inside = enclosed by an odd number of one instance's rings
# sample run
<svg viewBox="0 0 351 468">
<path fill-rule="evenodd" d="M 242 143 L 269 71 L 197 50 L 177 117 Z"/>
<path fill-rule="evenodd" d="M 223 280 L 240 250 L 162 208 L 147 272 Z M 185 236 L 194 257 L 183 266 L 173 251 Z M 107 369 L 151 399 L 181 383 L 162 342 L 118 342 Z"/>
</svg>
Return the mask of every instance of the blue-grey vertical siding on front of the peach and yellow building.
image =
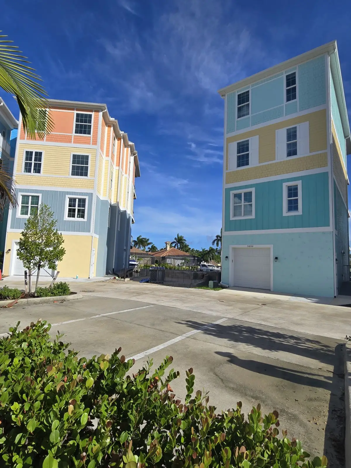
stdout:
<svg viewBox="0 0 351 468">
<path fill-rule="evenodd" d="M 17 194 L 28 193 L 37 194 L 41 193 L 41 203 L 49 205 L 54 213 L 54 218 L 57 219 L 57 225 L 59 231 L 70 231 L 70 232 L 90 232 L 90 219 L 91 219 L 91 205 L 92 205 L 92 193 L 82 193 L 74 191 L 61 191 L 61 190 L 35 190 L 35 189 L 16 189 Z M 65 204 L 66 195 L 72 195 L 77 197 L 88 197 L 87 207 L 87 220 L 86 221 L 66 221 L 65 218 Z M 17 210 L 13 210 L 11 214 L 11 229 L 23 229 L 27 218 L 17 218 Z"/>
</svg>

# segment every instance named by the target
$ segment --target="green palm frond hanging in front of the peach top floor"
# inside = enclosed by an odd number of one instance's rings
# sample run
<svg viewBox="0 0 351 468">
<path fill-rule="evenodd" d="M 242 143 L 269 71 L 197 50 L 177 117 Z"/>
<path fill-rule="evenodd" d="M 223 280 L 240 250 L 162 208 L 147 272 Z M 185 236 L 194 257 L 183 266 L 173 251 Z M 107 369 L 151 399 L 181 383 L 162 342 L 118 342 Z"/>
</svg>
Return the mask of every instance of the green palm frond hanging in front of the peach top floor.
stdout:
<svg viewBox="0 0 351 468">
<path fill-rule="evenodd" d="M 1 32 L 1 31 L 0 31 Z M 48 107 L 47 93 L 40 84 L 41 78 L 34 68 L 26 65 L 30 62 L 21 55 L 13 41 L 2 39 L 0 35 L 0 87 L 16 96 L 22 114 L 23 127 L 30 138 L 43 138 L 51 132 L 53 121 L 45 111 Z M 43 111 L 45 111 L 43 118 Z"/>
</svg>

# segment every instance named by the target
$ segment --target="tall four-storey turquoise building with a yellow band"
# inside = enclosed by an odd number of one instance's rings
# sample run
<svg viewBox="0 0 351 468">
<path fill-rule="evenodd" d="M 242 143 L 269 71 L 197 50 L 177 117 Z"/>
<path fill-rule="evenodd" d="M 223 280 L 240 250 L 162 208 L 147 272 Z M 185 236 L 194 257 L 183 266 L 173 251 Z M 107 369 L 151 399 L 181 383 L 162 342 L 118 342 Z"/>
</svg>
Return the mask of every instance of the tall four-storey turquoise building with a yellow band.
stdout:
<svg viewBox="0 0 351 468">
<path fill-rule="evenodd" d="M 222 283 L 337 296 L 350 279 L 351 139 L 336 41 L 219 94 Z"/>
</svg>

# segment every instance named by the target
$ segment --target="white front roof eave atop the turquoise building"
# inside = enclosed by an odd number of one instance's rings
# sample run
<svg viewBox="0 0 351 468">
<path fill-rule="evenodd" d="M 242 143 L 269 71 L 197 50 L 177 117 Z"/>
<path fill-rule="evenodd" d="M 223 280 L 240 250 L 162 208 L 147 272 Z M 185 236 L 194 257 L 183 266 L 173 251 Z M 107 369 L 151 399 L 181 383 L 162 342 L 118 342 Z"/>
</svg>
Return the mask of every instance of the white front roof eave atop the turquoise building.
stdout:
<svg viewBox="0 0 351 468">
<path fill-rule="evenodd" d="M 332 53 L 336 49 L 336 41 L 331 41 L 328 44 L 323 44 L 312 51 L 304 52 L 303 54 L 298 55 L 297 57 L 293 57 L 292 59 L 285 60 L 285 62 L 281 62 L 278 65 L 271 66 L 262 72 L 256 73 L 254 75 L 249 76 L 248 78 L 244 78 L 243 80 L 237 81 L 232 85 L 226 86 L 225 88 L 221 88 L 218 90 L 218 93 L 221 97 L 227 93 L 235 91 L 236 89 L 243 88 L 251 83 L 255 83 L 256 81 L 262 80 L 263 78 L 267 78 L 271 75 L 279 73 L 286 68 L 291 68 L 292 66 L 298 65 L 300 62 L 304 62 L 314 57 L 318 57 L 324 53 Z"/>
</svg>

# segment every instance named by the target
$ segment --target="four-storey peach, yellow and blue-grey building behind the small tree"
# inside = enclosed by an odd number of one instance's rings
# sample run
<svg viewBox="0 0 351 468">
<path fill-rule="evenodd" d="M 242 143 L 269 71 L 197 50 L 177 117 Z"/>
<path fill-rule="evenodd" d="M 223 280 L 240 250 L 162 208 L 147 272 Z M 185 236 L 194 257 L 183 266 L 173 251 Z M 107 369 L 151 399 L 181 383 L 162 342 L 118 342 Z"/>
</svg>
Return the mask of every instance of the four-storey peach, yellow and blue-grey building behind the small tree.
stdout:
<svg viewBox="0 0 351 468">
<path fill-rule="evenodd" d="M 16 249 L 30 213 L 51 206 L 64 236 L 60 277 L 88 278 L 128 267 L 138 153 L 105 104 L 50 100 L 52 131 L 24 132 L 20 116 L 14 178 L 18 207 L 7 219 L 3 273 L 22 275 Z M 43 274 L 52 274 L 51 271 Z"/>
</svg>

